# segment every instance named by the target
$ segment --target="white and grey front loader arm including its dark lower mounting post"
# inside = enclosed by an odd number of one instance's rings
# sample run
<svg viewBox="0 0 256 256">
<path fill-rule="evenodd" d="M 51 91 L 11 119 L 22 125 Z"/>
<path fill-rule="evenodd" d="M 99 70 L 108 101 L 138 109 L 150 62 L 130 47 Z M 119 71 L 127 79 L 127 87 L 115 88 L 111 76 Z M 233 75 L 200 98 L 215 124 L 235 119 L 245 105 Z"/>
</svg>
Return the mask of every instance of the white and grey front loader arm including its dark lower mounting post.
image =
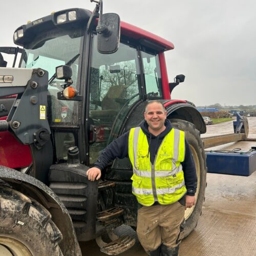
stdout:
<svg viewBox="0 0 256 256">
<path fill-rule="evenodd" d="M 17 94 L 0 132 L 11 132 L 22 144 L 30 145 L 33 176 L 48 183 L 53 161 L 47 119 L 48 72 L 42 69 L 0 68 L 0 97 Z"/>
</svg>

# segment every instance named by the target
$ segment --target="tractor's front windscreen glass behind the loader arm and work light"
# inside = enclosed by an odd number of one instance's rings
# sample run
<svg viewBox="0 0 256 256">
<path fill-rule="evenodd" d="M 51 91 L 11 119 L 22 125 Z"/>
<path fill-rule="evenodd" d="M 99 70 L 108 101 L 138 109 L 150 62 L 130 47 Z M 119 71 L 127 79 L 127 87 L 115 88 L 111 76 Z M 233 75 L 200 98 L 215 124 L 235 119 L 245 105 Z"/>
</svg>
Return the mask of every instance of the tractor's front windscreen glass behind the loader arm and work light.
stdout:
<svg viewBox="0 0 256 256">
<path fill-rule="evenodd" d="M 55 77 L 55 68 L 68 65 L 72 68 L 72 87 L 79 91 L 81 45 L 83 36 L 71 34 L 59 34 L 34 40 L 22 56 L 21 68 L 41 68 L 49 73 L 48 85 L 48 117 L 50 125 L 77 125 L 78 124 L 78 102 L 69 100 L 58 100 L 57 93 L 62 91 L 61 85 L 64 80 Z"/>
</svg>

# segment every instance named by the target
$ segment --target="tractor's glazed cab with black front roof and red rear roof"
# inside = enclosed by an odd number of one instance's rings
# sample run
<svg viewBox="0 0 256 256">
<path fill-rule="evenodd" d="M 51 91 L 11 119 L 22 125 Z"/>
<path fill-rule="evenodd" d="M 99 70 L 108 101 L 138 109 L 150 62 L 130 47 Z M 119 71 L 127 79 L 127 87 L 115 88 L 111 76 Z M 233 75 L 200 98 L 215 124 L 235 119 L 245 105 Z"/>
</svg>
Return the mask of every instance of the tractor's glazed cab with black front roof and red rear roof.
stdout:
<svg viewBox="0 0 256 256">
<path fill-rule="evenodd" d="M 81 162 L 93 165 L 100 151 L 123 132 L 134 105 L 164 98 L 160 61 L 172 43 L 161 45 L 160 37 L 121 23 L 118 49 L 107 52 L 99 49 L 106 36 L 91 16 L 84 9 L 63 10 L 14 33 L 15 44 L 24 48 L 19 67 L 49 73 L 48 121 L 57 163 L 67 161 L 68 148 L 77 145 Z M 63 65 L 72 70 L 70 86 L 78 98 L 58 96 L 64 81 L 56 76 L 56 67 Z"/>
</svg>

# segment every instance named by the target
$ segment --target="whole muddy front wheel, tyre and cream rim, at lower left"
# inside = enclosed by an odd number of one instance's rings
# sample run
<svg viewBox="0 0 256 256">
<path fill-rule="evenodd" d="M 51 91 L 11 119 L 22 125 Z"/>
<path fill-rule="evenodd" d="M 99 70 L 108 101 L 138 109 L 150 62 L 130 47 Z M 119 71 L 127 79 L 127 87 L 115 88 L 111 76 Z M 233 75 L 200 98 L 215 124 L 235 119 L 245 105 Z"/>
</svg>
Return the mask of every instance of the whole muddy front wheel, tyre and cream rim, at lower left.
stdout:
<svg viewBox="0 0 256 256">
<path fill-rule="evenodd" d="M 62 234 L 38 202 L 0 186 L 0 252 L 4 255 L 63 255 Z"/>
</svg>

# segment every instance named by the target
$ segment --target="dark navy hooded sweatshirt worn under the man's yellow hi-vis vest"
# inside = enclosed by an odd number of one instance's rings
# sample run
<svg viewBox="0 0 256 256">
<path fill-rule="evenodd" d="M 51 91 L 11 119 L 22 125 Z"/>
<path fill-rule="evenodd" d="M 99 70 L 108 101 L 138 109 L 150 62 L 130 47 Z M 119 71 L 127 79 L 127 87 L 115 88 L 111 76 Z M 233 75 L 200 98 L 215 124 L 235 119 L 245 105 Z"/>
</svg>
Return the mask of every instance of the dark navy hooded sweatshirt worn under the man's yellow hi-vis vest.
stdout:
<svg viewBox="0 0 256 256">
<path fill-rule="evenodd" d="M 148 131 L 148 124 L 146 121 L 143 121 L 140 125 L 142 131 L 147 136 L 147 142 L 149 145 L 150 151 L 150 161 L 153 164 L 158 148 L 161 145 L 163 138 L 167 133 L 169 133 L 173 126 L 169 120 L 165 120 L 165 130 L 160 133 L 158 136 L 151 134 Z M 113 142 L 111 142 L 104 150 L 101 152 L 98 161 L 94 164 L 95 167 L 103 170 L 111 161 L 116 157 L 124 158 L 128 157 L 128 141 L 129 141 L 129 132 L 124 133 Z M 185 159 L 182 164 L 182 169 L 184 172 L 184 180 L 187 189 L 188 196 L 194 196 L 197 190 L 197 173 L 195 168 L 195 163 L 193 161 L 189 145 L 185 140 Z"/>
</svg>

